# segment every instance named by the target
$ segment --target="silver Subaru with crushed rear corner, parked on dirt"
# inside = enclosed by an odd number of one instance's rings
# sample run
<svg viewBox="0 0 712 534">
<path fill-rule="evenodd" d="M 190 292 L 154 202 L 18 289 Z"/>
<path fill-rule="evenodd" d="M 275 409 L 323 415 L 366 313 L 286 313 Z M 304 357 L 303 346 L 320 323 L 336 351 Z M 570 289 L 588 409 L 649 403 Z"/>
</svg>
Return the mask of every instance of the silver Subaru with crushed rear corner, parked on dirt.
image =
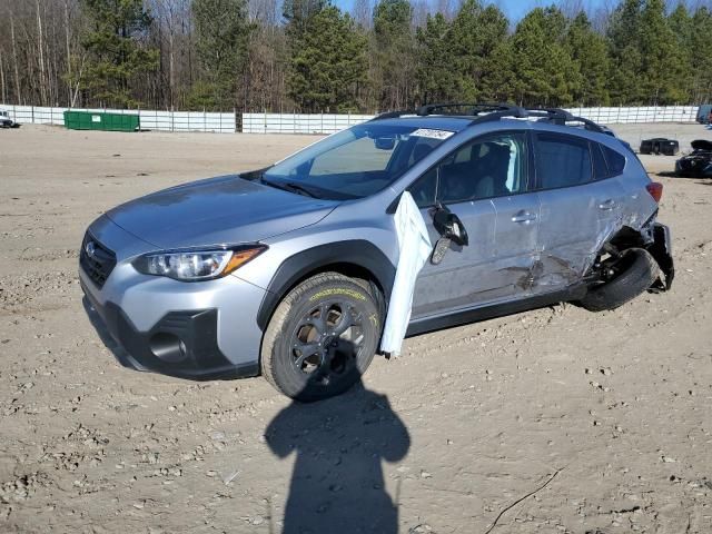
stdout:
<svg viewBox="0 0 712 534">
<path fill-rule="evenodd" d="M 662 186 L 610 130 L 436 105 L 102 215 L 80 250 L 85 307 L 135 369 L 337 395 L 378 352 L 406 190 L 436 244 L 408 335 L 560 301 L 612 309 L 672 283 Z"/>
</svg>

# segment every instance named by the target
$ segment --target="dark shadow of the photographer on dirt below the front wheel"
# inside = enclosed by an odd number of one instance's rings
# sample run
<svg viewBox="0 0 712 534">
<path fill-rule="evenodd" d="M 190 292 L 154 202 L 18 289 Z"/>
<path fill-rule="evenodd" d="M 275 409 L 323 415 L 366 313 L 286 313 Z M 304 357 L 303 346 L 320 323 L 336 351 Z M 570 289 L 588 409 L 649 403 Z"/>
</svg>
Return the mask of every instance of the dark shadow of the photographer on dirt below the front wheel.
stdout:
<svg viewBox="0 0 712 534">
<path fill-rule="evenodd" d="M 314 404 L 293 402 L 265 437 L 279 458 L 296 454 L 284 514 L 285 534 L 398 532 L 398 492 L 386 492 L 382 462 L 404 458 L 406 426 L 388 397 L 359 380 Z"/>
</svg>

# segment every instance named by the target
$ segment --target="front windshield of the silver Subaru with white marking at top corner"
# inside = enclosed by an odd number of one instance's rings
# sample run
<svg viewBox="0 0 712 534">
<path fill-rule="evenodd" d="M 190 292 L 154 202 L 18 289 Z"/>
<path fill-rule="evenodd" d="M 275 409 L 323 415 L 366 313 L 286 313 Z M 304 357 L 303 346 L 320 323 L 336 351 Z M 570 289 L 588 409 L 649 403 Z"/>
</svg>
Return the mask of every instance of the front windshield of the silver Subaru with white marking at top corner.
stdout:
<svg viewBox="0 0 712 534">
<path fill-rule="evenodd" d="M 417 126 L 365 122 L 278 162 L 261 179 L 317 198 L 363 198 L 393 184 L 452 135 Z"/>
</svg>

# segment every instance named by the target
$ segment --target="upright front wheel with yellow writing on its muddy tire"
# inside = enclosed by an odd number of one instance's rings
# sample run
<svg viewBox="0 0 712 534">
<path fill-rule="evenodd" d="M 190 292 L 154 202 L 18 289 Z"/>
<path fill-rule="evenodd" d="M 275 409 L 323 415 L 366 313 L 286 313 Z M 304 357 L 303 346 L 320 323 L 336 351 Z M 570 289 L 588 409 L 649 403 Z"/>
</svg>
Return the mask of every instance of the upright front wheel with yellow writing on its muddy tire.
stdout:
<svg viewBox="0 0 712 534">
<path fill-rule="evenodd" d="M 340 395 L 356 384 L 380 339 L 382 298 L 374 290 L 362 280 L 322 273 L 289 291 L 263 339 L 267 382 L 300 402 Z"/>
</svg>

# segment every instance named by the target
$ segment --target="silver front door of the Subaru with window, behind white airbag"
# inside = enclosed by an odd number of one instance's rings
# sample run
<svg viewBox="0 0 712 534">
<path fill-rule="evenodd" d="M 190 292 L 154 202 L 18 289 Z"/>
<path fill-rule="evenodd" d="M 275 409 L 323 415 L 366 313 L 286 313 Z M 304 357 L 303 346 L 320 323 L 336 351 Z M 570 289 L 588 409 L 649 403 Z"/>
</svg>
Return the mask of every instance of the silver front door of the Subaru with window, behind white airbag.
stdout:
<svg viewBox="0 0 712 534">
<path fill-rule="evenodd" d="M 433 205 L 442 202 L 469 235 L 451 244 L 438 265 L 428 261 L 416 281 L 413 318 L 497 303 L 528 294 L 536 251 L 538 197 L 527 192 L 525 132 L 477 138 L 456 149 L 408 190 L 421 206 L 433 245 Z"/>
</svg>

